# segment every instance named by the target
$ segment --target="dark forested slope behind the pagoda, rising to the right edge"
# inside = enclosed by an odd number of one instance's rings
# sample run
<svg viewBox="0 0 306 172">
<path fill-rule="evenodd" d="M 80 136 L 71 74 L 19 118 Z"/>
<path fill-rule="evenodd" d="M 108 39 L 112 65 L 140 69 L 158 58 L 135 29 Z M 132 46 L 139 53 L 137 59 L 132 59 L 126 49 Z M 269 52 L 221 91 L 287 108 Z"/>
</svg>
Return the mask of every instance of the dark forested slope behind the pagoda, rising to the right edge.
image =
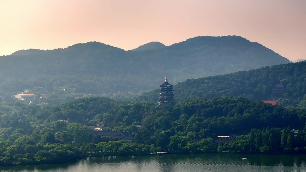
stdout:
<svg viewBox="0 0 306 172">
<path fill-rule="evenodd" d="M 174 86 L 177 102 L 202 97 L 242 96 L 252 100 L 271 99 L 276 84 L 282 83 L 285 93 L 279 103 L 299 104 L 306 94 L 306 62 L 266 66 L 226 75 L 188 79 Z M 157 102 L 158 90 L 140 95 L 135 101 Z"/>
</svg>

